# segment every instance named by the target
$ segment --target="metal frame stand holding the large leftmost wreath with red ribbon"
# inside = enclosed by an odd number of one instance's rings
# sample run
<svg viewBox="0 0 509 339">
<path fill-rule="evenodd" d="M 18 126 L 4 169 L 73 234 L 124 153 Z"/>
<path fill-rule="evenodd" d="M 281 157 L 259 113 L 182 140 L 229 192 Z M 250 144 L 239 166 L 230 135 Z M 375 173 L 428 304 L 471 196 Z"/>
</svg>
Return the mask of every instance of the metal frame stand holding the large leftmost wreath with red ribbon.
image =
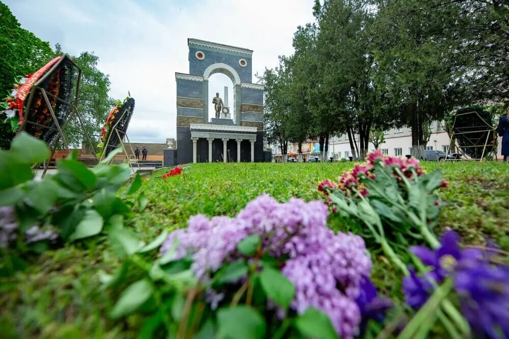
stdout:
<svg viewBox="0 0 509 339">
<path fill-rule="evenodd" d="M 49 93 L 48 91 L 46 91 L 45 88 L 41 87 L 41 83 L 45 82 L 49 77 L 51 77 L 53 75 L 53 72 L 56 69 L 58 69 L 65 60 L 70 62 L 73 65 L 73 67 L 75 67 L 77 69 L 77 71 L 78 71 L 78 77 L 77 77 L 76 86 L 75 86 L 75 88 L 76 88 L 76 95 L 75 95 L 75 98 L 74 98 L 74 104 L 72 104 L 72 103 L 70 103 L 68 101 L 65 101 L 62 98 L 59 98 L 59 97 Z M 32 88 L 30 89 L 30 95 L 29 95 L 29 98 L 28 98 L 28 101 L 27 101 L 27 104 L 26 104 L 25 112 L 23 114 L 23 123 L 22 123 L 22 125 L 19 128 L 19 131 L 17 133 L 19 133 L 21 131 L 24 131 L 26 129 L 27 125 L 35 125 L 35 126 L 43 128 L 43 129 L 49 129 L 49 130 L 52 130 L 52 131 L 56 131 L 58 133 L 58 135 L 51 142 L 51 144 L 48 144 L 49 149 L 50 149 L 50 156 L 49 156 L 48 161 L 44 163 L 42 177 L 44 177 L 44 175 L 46 174 L 46 172 L 48 170 L 49 163 L 51 162 L 51 159 L 53 158 L 53 155 L 54 155 L 54 153 L 56 151 L 56 148 L 58 147 L 60 139 L 62 139 L 64 147 L 66 149 L 69 149 L 69 144 L 67 143 L 67 140 L 66 140 L 66 138 L 64 136 L 64 130 L 65 130 L 68 122 L 73 118 L 74 115 L 76 115 L 76 117 L 79 120 L 79 124 L 81 125 L 81 128 L 82 128 L 82 130 L 84 132 L 84 135 L 85 135 L 85 137 L 87 139 L 87 142 L 88 142 L 89 146 L 91 146 L 92 149 L 95 150 L 94 145 L 92 144 L 92 142 L 90 140 L 90 137 L 89 137 L 89 134 L 87 132 L 87 129 L 85 128 L 85 126 L 83 124 L 83 120 L 81 119 L 81 115 L 80 115 L 80 113 L 79 113 L 79 111 L 78 111 L 78 109 L 76 107 L 77 103 L 78 103 L 80 80 L 81 80 L 81 69 L 67 55 L 65 55 L 58 62 L 56 62 L 39 80 L 37 80 L 34 83 L 34 85 L 32 86 Z M 74 88 L 74 86 L 72 86 L 72 87 Z M 54 127 L 43 125 L 43 124 L 39 124 L 39 122 L 31 121 L 29 119 L 30 108 L 31 108 L 31 105 L 33 103 L 34 95 L 35 95 L 37 90 L 41 91 L 41 94 L 42 94 L 42 97 L 44 99 L 44 102 L 46 103 L 46 105 L 48 107 L 48 110 L 49 110 L 49 113 L 51 115 L 51 120 L 54 123 Z M 53 111 L 53 107 L 51 106 L 51 103 L 49 101 L 49 97 L 48 96 L 54 98 L 56 101 L 59 101 L 59 102 L 63 103 L 64 105 L 69 107 L 70 110 L 71 110 L 71 113 L 65 118 L 64 123 L 63 123 L 62 126 L 60 126 L 60 124 L 59 124 L 58 118 L 56 117 L 55 112 Z M 33 169 L 37 168 L 38 165 L 39 164 L 35 164 L 32 168 Z M 36 169 L 36 171 L 37 171 L 37 169 Z"/>
</svg>

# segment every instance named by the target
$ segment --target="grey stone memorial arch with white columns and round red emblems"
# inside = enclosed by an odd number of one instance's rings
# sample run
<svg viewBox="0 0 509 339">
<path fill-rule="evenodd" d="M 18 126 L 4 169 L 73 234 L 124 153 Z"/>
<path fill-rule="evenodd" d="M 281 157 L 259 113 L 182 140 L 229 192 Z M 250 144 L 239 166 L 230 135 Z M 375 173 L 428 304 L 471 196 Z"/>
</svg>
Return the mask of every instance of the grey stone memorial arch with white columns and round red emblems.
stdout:
<svg viewBox="0 0 509 339">
<path fill-rule="evenodd" d="M 177 149 L 168 151 L 165 165 L 264 161 L 263 85 L 251 82 L 253 51 L 197 39 L 187 44 L 189 73 L 175 73 Z M 215 73 L 233 83 L 233 100 L 223 103 L 219 118 L 209 116 L 209 78 Z M 235 122 L 228 111 L 235 113 Z"/>
</svg>

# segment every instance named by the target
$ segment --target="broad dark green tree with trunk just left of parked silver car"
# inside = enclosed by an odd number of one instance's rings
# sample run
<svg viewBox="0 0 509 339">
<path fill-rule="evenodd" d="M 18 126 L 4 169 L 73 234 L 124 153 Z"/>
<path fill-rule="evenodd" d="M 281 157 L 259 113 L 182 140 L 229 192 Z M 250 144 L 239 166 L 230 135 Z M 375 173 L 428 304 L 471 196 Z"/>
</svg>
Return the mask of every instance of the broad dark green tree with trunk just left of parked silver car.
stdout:
<svg viewBox="0 0 509 339">
<path fill-rule="evenodd" d="M 458 14 L 438 11 L 435 1 L 377 3 L 375 83 L 386 93 L 396 124 L 411 128 L 412 154 L 421 157 L 426 126 L 457 103 L 462 70 L 450 27 Z"/>
</svg>

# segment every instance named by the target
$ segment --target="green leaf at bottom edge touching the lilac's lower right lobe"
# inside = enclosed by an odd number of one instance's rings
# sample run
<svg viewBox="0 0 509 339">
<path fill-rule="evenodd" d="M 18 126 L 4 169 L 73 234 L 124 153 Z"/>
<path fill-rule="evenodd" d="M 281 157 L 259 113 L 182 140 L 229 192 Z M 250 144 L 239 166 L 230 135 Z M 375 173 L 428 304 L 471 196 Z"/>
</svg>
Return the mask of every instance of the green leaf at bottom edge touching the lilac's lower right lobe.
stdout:
<svg viewBox="0 0 509 339">
<path fill-rule="evenodd" d="M 305 336 L 318 339 L 337 339 L 337 333 L 329 317 L 323 312 L 309 308 L 295 320 L 295 327 Z"/>
</svg>

